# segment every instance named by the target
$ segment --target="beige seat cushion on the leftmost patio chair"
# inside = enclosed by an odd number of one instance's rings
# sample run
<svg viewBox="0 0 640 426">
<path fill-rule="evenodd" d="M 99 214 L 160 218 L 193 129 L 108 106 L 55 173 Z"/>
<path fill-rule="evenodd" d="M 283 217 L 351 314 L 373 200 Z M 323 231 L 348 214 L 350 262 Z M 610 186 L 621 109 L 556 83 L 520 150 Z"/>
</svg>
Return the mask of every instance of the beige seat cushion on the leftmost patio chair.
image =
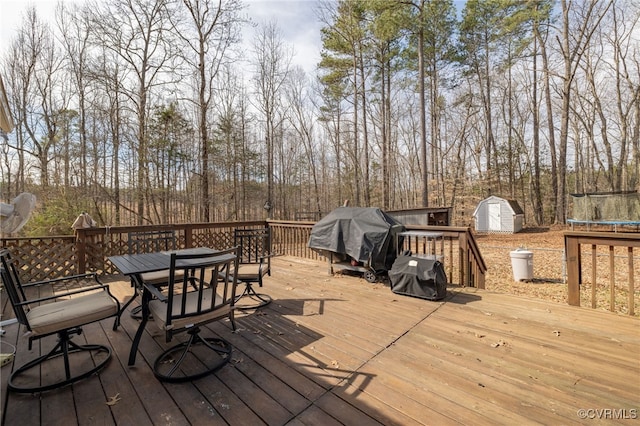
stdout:
<svg viewBox="0 0 640 426">
<path fill-rule="evenodd" d="M 106 291 L 85 294 L 33 307 L 27 313 L 31 331 L 55 333 L 116 315 L 118 304 Z"/>
</svg>

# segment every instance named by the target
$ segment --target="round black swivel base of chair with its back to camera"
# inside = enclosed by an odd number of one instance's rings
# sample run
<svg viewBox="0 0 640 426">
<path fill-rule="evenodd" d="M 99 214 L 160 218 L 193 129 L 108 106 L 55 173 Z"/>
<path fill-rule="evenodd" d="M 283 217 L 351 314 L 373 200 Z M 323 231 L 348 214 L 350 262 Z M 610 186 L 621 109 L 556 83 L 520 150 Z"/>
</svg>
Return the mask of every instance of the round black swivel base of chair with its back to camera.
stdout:
<svg viewBox="0 0 640 426">
<path fill-rule="evenodd" d="M 233 347 L 229 342 L 220 338 L 201 337 L 199 327 L 189 331 L 189 340 L 179 343 L 164 351 L 153 363 L 153 374 L 163 382 L 180 383 L 199 379 L 218 371 L 231 360 Z M 210 358 L 211 352 L 196 354 L 197 347 L 203 347 L 212 351 L 213 360 Z M 184 361 L 190 358 L 197 358 L 194 362 L 186 365 Z M 196 372 L 191 372 L 193 366 L 200 368 Z M 203 369 L 204 368 L 204 369 Z"/>
</svg>

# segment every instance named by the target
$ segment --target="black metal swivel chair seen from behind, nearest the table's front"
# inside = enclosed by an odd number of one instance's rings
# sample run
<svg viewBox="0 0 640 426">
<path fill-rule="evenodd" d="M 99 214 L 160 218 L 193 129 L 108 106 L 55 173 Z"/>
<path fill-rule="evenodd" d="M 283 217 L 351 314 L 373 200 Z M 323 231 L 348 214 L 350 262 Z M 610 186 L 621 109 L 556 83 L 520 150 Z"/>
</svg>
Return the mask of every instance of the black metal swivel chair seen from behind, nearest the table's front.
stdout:
<svg viewBox="0 0 640 426">
<path fill-rule="evenodd" d="M 228 318 L 236 329 L 233 304 L 237 280 L 230 270 L 238 266 L 238 249 L 215 254 L 171 255 L 169 284 L 165 292 L 145 283 L 154 294 L 149 312 L 166 334 L 167 342 L 187 333 L 189 339 L 164 351 L 154 362 L 153 372 L 166 382 L 195 380 L 219 370 L 231 359 L 232 347 L 218 337 L 202 337 L 203 327 Z M 144 314 L 144 312 L 143 312 Z"/>
</svg>

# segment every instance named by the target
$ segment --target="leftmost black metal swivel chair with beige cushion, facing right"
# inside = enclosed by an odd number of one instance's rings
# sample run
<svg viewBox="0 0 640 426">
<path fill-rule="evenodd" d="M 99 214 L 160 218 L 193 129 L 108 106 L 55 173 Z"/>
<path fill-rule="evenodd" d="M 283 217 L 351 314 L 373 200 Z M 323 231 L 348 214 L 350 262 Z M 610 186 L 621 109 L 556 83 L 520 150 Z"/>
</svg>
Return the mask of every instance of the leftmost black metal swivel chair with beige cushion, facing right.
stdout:
<svg viewBox="0 0 640 426">
<path fill-rule="evenodd" d="M 0 275 L 16 318 L 29 336 L 29 350 L 34 340 L 58 336 L 49 352 L 13 370 L 7 386 L 10 391 L 36 393 L 56 389 L 87 378 L 107 365 L 110 347 L 72 340 L 82 334 L 84 325 L 116 316 L 120 310 L 118 299 L 96 274 L 23 284 L 15 259 L 3 249 Z M 39 295 L 33 297 L 34 293 Z"/>
</svg>

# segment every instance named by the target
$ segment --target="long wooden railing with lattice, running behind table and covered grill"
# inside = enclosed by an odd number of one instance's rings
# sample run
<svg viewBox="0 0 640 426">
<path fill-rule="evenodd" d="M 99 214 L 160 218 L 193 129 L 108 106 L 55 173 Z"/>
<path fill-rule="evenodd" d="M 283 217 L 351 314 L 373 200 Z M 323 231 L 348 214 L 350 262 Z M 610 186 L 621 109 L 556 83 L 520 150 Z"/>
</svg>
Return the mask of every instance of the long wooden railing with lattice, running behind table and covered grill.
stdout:
<svg viewBox="0 0 640 426">
<path fill-rule="evenodd" d="M 24 271 L 25 282 L 50 279 L 70 274 L 95 271 L 115 274 L 109 256 L 125 254 L 129 232 L 173 230 L 177 247 L 212 247 L 224 249 L 233 245 L 235 228 L 264 227 L 272 229 L 272 250 L 278 255 L 321 260 L 323 256 L 308 247 L 314 222 L 250 221 L 224 223 L 190 223 L 177 225 L 118 226 L 79 229 L 75 236 L 2 238 Z M 442 232 L 445 239 L 444 265 L 450 283 L 484 288 L 486 265 L 470 228 L 449 226 L 408 226 L 409 230 Z"/>
</svg>

